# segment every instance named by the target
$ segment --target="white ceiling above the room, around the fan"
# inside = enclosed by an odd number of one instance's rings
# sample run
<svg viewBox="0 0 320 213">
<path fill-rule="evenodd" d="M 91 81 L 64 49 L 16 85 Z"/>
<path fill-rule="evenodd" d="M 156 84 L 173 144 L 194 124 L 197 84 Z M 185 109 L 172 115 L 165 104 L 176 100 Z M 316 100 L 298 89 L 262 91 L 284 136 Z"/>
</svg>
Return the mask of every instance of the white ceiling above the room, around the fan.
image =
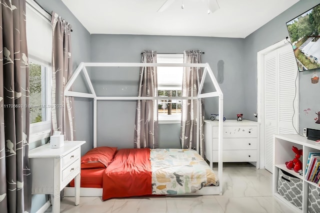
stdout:
<svg viewBox="0 0 320 213">
<path fill-rule="evenodd" d="M 62 0 L 91 34 L 184 35 L 244 38 L 298 0 L 218 0 L 207 14 L 202 0 Z M 285 24 L 285 23 L 283 23 Z M 72 23 L 71 23 L 72 25 Z"/>
</svg>

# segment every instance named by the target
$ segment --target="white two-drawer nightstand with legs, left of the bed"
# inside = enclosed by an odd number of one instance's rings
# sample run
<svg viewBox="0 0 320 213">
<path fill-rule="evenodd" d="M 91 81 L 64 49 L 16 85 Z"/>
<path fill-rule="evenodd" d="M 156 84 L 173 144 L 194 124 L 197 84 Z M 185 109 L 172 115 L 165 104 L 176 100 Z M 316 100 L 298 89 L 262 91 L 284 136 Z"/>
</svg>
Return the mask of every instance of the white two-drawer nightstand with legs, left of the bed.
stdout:
<svg viewBox="0 0 320 213">
<path fill-rule="evenodd" d="M 32 178 L 32 194 L 52 195 L 52 212 L 60 212 L 60 191 L 73 179 L 74 204 L 80 199 L 81 145 L 85 141 L 65 141 L 61 148 L 49 144 L 29 151 Z"/>
</svg>

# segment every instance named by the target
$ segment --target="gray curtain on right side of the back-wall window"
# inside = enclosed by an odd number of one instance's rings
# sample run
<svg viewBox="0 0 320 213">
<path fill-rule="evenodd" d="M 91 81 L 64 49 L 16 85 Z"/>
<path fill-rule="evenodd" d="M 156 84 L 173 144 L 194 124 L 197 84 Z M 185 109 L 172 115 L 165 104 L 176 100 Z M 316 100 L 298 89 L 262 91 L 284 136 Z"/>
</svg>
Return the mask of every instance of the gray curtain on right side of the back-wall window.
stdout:
<svg viewBox="0 0 320 213">
<path fill-rule="evenodd" d="M 183 51 L 183 63 L 201 63 L 200 50 Z M 197 67 L 184 67 L 182 79 L 182 96 L 196 97 L 202 78 L 202 69 Z M 204 157 L 204 108 L 202 100 L 199 99 L 199 154 Z M 196 148 L 196 122 L 197 122 L 197 101 L 182 100 L 181 106 L 181 131 L 180 141 L 182 148 Z"/>
</svg>

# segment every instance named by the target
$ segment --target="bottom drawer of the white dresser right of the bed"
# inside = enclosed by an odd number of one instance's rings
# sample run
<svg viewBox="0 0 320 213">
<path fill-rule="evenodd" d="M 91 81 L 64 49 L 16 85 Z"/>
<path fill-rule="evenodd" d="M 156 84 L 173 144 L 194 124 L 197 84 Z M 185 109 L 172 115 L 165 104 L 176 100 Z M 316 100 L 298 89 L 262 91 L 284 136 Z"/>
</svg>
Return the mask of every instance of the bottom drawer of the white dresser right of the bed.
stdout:
<svg viewBox="0 0 320 213">
<path fill-rule="evenodd" d="M 256 162 L 256 150 L 224 150 L 223 162 Z M 218 151 L 213 151 L 213 162 L 218 162 Z"/>
</svg>

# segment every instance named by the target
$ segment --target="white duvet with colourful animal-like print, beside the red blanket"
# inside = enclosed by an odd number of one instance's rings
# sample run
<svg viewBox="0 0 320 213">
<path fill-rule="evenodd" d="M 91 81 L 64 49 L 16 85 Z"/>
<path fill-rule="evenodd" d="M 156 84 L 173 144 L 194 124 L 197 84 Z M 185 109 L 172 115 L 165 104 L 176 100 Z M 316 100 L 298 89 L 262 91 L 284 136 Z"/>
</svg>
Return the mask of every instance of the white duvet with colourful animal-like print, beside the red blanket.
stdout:
<svg viewBox="0 0 320 213">
<path fill-rule="evenodd" d="M 179 195 L 218 186 L 216 175 L 194 150 L 151 149 L 150 161 L 153 195 Z"/>
</svg>

